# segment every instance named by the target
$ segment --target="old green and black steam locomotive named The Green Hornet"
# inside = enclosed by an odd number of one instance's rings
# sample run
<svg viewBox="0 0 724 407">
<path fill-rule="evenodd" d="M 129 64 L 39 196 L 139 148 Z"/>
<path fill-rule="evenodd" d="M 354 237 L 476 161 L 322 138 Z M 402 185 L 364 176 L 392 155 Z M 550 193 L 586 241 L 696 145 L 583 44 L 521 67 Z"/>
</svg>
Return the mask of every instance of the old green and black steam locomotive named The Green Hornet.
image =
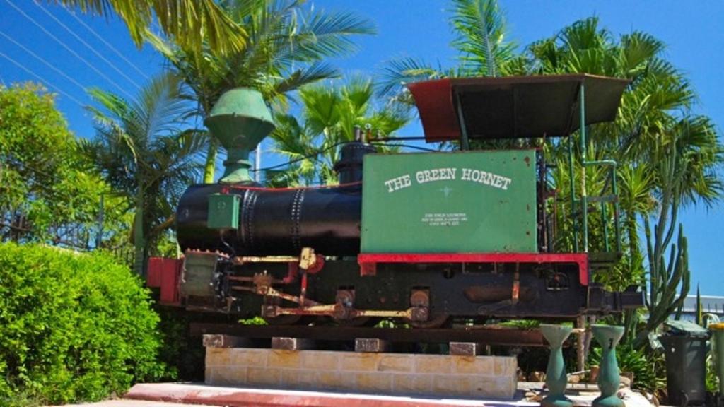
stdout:
<svg viewBox="0 0 724 407">
<path fill-rule="evenodd" d="M 205 121 L 227 149 L 226 172 L 186 190 L 176 218 L 184 257 L 151 259 L 149 284 L 165 303 L 271 324 L 439 327 L 641 306 L 635 289 L 612 293 L 592 279 L 620 258 L 620 232 L 615 163 L 586 161 L 585 130 L 615 119 L 627 84 L 592 75 L 413 83 L 426 142 L 459 149 L 384 154 L 358 132 L 340 147 L 339 185 L 311 188 L 251 180 L 248 154 L 274 124 L 259 93 L 228 91 Z M 591 196 L 571 181 L 571 196 L 558 196 L 540 148 L 471 149 L 532 138 L 568 138 L 571 169 L 576 161 L 584 174 L 613 167 L 612 193 Z M 596 252 L 594 205 L 611 218 L 597 222 Z M 573 250 L 555 249 L 555 210 L 571 217 Z"/>
</svg>

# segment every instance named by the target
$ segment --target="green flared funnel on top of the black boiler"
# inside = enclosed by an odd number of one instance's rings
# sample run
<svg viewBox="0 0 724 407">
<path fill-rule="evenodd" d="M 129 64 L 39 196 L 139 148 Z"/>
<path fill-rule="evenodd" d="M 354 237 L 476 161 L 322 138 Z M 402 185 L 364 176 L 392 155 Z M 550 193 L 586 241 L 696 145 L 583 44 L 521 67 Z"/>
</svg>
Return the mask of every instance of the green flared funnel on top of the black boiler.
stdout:
<svg viewBox="0 0 724 407">
<path fill-rule="evenodd" d="M 227 91 L 214 104 L 203 124 L 227 150 L 220 183 L 252 182 L 249 152 L 274 130 L 271 112 L 261 93 L 249 88 Z"/>
</svg>

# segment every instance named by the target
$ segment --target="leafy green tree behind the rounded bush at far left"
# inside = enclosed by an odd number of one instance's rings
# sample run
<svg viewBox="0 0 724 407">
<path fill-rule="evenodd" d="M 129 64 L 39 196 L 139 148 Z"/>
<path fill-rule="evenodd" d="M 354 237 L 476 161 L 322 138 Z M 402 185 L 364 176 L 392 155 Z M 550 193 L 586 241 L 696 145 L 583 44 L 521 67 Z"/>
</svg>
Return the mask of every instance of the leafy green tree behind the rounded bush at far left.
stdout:
<svg viewBox="0 0 724 407">
<path fill-rule="evenodd" d="M 0 86 L 0 240 L 91 247 L 101 195 L 109 192 L 53 94 L 33 83 Z M 125 229 L 124 204 L 104 200 L 108 239 Z"/>
</svg>

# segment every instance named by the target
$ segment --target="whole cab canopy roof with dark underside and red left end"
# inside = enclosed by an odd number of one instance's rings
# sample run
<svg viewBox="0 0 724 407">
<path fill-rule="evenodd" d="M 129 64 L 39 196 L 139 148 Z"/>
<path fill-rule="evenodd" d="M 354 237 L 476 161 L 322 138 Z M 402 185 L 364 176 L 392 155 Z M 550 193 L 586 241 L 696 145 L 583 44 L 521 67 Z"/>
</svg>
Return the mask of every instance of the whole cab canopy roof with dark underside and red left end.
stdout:
<svg viewBox="0 0 724 407">
<path fill-rule="evenodd" d="M 468 138 L 561 137 L 578 130 L 584 85 L 586 125 L 615 119 L 626 79 L 595 75 L 472 77 L 411 83 L 429 142 Z"/>
</svg>

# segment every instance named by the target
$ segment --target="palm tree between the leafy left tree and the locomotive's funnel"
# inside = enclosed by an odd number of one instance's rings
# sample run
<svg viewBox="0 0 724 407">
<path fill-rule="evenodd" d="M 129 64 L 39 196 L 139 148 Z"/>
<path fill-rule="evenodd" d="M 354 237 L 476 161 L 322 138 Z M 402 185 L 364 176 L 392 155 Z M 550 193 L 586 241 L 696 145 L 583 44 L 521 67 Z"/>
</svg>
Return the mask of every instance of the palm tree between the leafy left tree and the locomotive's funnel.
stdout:
<svg viewBox="0 0 724 407">
<path fill-rule="evenodd" d="M 98 107 L 96 138 L 83 148 L 111 188 L 135 207 L 132 240 L 134 267 L 143 274 L 148 248 L 173 222 L 177 201 L 201 174 L 203 131 L 187 127 L 190 108 L 179 77 L 154 77 L 135 100 L 93 89 Z"/>
</svg>

